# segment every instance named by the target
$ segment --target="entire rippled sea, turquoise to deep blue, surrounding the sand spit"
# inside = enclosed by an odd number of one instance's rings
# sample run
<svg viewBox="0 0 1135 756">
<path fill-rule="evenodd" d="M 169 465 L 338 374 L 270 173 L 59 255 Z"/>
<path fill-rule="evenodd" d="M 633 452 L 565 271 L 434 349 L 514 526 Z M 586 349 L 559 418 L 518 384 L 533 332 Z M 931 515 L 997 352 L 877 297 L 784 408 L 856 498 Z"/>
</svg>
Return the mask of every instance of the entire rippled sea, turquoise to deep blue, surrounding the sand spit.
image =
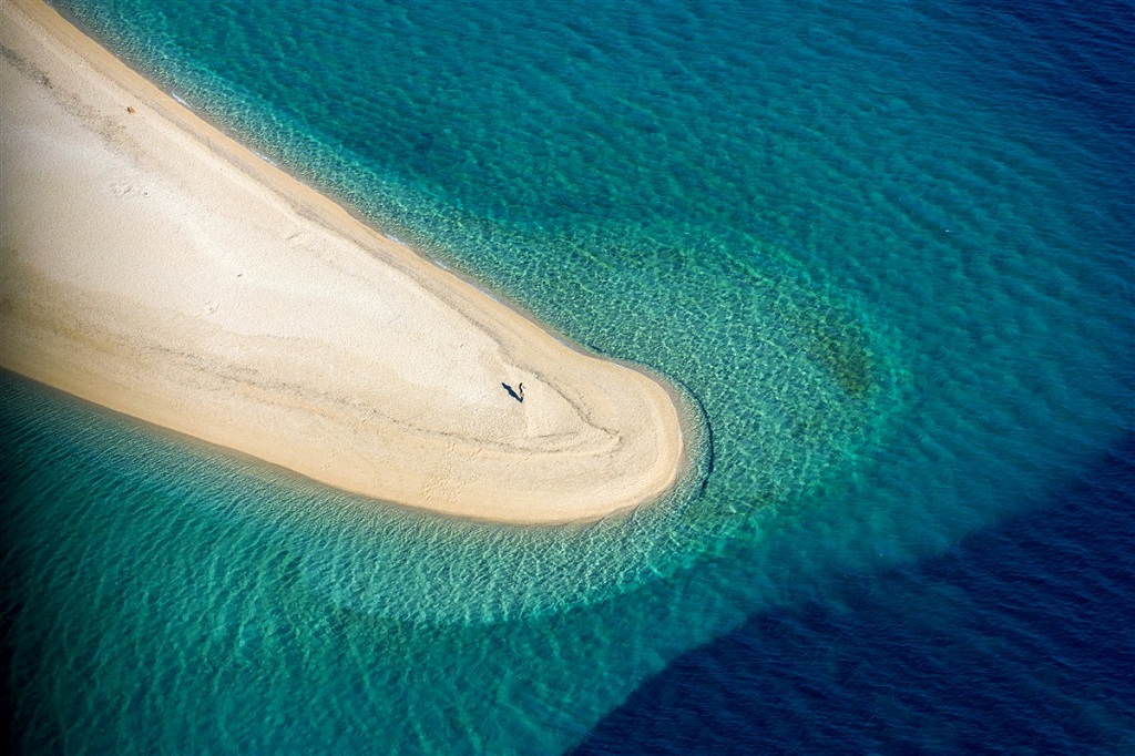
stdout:
<svg viewBox="0 0 1135 756">
<path fill-rule="evenodd" d="M 507 528 L 0 376 L 19 750 L 1135 750 L 1130 0 L 54 5 L 705 443 Z"/>
</svg>

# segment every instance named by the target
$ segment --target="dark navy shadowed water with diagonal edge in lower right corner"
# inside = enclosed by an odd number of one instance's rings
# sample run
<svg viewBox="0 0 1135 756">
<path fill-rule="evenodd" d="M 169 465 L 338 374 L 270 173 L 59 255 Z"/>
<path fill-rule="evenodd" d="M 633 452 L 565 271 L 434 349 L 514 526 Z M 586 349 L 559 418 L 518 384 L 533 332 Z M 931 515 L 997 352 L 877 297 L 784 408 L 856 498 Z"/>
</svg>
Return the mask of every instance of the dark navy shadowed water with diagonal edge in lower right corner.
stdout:
<svg viewBox="0 0 1135 756">
<path fill-rule="evenodd" d="M 600 754 L 1135 750 L 1135 438 L 1027 516 L 682 655 Z"/>
</svg>

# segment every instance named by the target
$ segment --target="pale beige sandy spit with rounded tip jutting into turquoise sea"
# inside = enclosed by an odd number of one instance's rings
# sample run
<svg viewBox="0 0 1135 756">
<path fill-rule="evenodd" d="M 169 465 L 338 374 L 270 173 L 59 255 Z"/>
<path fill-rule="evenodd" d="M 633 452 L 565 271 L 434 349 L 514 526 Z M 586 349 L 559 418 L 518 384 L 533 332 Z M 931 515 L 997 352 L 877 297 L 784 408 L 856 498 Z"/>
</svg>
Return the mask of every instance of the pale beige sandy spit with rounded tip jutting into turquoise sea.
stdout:
<svg viewBox="0 0 1135 756">
<path fill-rule="evenodd" d="M 47 6 L 0 14 L 5 368 L 462 516 L 592 519 L 674 485 L 659 383 L 364 226 Z"/>
</svg>

